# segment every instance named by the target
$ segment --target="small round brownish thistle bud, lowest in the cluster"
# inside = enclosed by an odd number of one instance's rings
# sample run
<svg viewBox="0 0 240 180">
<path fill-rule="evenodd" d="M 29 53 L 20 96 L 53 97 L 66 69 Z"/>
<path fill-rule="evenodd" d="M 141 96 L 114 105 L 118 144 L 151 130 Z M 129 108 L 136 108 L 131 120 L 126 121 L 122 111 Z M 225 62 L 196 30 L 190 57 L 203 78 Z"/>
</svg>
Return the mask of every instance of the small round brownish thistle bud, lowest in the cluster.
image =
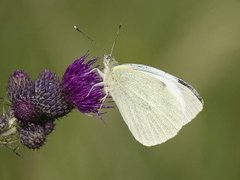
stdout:
<svg viewBox="0 0 240 180">
<path fill-rule="evenodd" d="M 42 126 L 29 123 L 20 130 L 20 142 L 29 149 L 39 149 L 46 141 L 46 133 Z"/>
</svg>

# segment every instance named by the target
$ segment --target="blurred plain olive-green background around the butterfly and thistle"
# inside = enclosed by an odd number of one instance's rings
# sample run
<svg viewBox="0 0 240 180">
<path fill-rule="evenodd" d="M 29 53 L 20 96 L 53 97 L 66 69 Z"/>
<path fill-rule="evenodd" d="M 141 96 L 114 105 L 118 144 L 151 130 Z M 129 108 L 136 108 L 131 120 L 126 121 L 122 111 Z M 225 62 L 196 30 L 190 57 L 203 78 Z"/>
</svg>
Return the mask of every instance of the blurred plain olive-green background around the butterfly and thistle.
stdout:
<svg viewBox="0 0 240 180">
<path fill-rule="evenodd" d="M 105 124 L 74 111 L 38 151 L 24 148 L 19 158 L 0 147 L 0 180 L 240 179 L 239 0 L 0 0 L 0 95 L 15 69 L 62 75 L 88 50 L 101 57 L 120 23 L 115 58 L 183 78 L 203 96 L 203 112 L 148 148 L 117 108 Z"/>
</svg>

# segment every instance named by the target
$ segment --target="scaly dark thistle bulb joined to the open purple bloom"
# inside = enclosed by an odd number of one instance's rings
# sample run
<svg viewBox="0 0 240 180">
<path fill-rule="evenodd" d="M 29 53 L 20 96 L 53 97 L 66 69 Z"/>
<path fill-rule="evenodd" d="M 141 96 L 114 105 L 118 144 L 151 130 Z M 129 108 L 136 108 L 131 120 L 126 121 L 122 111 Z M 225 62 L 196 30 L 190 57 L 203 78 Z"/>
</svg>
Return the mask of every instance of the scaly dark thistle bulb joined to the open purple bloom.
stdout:
<svg viewBox="0 0 240 180">
<path fill-rule="evenodd" d="M 33 104 L 38 114 L 47 118 L 59 118 L 72 109 L 63 94 L 61 80 L 48 70 L 43 71 L 35 81 Z"/>
</svg>

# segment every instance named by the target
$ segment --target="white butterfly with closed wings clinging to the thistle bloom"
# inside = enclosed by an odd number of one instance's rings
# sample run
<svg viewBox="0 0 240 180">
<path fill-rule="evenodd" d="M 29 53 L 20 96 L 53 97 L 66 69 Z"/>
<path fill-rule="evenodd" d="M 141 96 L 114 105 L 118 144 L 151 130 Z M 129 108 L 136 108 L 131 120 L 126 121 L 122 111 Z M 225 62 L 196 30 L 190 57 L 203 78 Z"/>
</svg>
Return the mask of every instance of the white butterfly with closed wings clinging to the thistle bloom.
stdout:
<svg viewBox="0 0 240 180">
<path fill-rule="evenodd" d="M 137 141 L 145 146 L 174 137 L 203 108 L 203 99 L 185 81 L 156 68 L 122 64 L 104 55 L 103 78 L 106 96 L 115 101 Z"/>
</svg>

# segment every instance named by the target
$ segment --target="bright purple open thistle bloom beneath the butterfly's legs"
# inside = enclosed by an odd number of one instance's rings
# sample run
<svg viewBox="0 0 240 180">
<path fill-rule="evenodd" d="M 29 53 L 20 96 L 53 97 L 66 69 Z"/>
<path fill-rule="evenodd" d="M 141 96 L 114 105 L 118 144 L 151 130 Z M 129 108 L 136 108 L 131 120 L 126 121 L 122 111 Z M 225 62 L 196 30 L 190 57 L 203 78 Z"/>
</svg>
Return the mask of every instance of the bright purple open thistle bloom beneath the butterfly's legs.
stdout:
<svg viewBox="0 0 240 180">
<path fill-rule="evenodd" d="M 79 111 L 98 113 L 105 93 L 102 86 L 96 86 L 91 90 L 94 85 L 102 82 L 102 78 L 92 67 L 97 59 L 93 58 L 84 63 L 87 56 L 88 54 L 82 56 L 68 66 L 63 76 L 63 89 L 66 99 Z"/>
</svg>

